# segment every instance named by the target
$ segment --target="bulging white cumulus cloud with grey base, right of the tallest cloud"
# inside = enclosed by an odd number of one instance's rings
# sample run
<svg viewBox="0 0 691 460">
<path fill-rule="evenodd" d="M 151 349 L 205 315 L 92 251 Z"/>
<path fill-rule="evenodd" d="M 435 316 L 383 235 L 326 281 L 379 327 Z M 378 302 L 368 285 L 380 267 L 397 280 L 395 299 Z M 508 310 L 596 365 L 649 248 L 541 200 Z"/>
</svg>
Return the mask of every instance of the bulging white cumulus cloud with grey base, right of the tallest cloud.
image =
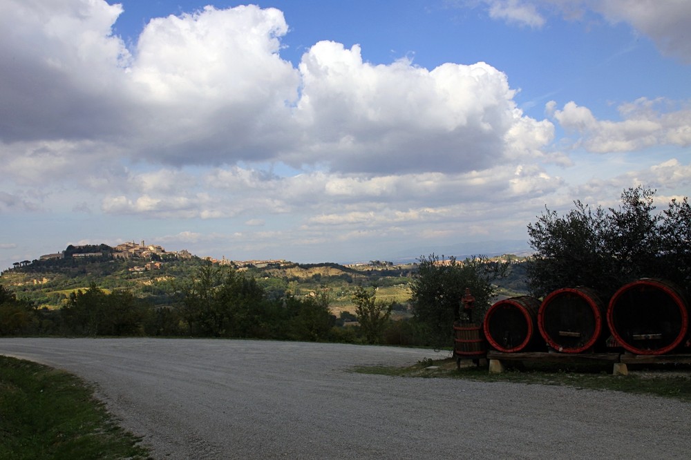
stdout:
<svg viewBox="0 0 691 460">
<path fill-rule="evenodd" d="M 545 127 L 515 107 L 507 75 L 484 63 L 433 70 L 406 59 L 374 65 L 359 46 L 321 41 L 299 66 L 302 97 L 296 118 L 308 148 L 287 162 L 325 162 L 332 171 L 471 171 L 501 162 L 523 142 L 540 146 Z M 532 137 L 531 140 L 527 140 Z"/>
</svg>

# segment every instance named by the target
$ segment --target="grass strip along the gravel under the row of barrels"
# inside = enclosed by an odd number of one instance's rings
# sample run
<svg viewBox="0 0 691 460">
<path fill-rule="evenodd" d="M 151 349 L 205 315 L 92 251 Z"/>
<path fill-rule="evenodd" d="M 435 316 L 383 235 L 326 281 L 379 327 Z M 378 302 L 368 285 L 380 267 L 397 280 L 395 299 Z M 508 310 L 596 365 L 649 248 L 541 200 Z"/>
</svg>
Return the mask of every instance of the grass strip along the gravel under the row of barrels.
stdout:
<svg viewBox="0 0 691 460">
<path fill-rule="evenodd" d="M 631 370 L 631 366 L 630 366 Z M 553 364 L 530 365 L 502 374 L 490 374 L 486 367 L 463 365 L 460 370 L 453 358 L 426 359 L 410 367 L 361 366 L 355 372 L 401 377 L 465 378 L 482 382 L 509 382 L 540 385 L 567 385 L 587 390 L 612 390 L 635 394 L 652 394 L 691 402 L 691 370 L 685 367 L 641 367 L 627 376 L 614 376 L 602 365 Z"/>
</svg>

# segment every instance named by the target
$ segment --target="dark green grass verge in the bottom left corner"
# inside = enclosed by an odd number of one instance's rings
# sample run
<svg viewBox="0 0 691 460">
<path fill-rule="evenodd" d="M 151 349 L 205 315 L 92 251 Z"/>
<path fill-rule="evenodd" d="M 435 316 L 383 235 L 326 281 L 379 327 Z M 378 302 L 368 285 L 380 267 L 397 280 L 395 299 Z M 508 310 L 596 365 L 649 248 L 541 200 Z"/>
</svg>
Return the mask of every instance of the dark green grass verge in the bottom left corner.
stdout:
<svg viewBox="0 0 691 460">
<path fill-rule="evenodd" d="M 0 459 L 148 459 L 76 376 L 0 356 Z"/>
</svg>

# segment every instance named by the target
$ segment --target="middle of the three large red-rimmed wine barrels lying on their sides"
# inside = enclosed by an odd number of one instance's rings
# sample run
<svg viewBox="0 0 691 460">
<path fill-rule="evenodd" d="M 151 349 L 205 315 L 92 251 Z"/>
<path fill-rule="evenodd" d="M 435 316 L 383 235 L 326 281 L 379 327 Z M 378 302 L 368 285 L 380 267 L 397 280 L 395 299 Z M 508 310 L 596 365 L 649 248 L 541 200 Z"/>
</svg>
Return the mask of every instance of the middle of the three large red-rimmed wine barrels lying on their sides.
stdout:
<svg viewBox="0 0 691 460">
<path fill-rule="evenodd" d="M 540 335 L 558 352 L 581 353 L 604 345 L 607 307 L 593 289 L 565 287 L 545 297 L 538 311 Z"/>
</svg>

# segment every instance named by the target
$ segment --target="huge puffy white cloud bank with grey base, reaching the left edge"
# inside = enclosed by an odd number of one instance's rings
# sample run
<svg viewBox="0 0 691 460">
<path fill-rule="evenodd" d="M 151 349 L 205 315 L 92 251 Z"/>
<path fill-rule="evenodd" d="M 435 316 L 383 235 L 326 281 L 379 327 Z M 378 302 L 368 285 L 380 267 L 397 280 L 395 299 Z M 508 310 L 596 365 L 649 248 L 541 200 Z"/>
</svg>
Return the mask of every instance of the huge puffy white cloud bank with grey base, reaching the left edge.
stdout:
<svg viewBox="0 0 691 460">
<path fill-rule="evenodd" d="M 111 34 L 120 6 L 9 1 L 0 15 L 0 138 L 106 142 L 132 160 L 323 164 L 331 171 L 472 171 L 551 126 L 524 117 L 484 63 L 433 70 L 363 62 L 323 41 L 294 68 L 275 9 L 207 7 L 153 19 L 132 50 Z M 87 144 L 79 150 L 93 146 Z M 67 153 L 66 153 L 67 154 Z"/>
</svg>

